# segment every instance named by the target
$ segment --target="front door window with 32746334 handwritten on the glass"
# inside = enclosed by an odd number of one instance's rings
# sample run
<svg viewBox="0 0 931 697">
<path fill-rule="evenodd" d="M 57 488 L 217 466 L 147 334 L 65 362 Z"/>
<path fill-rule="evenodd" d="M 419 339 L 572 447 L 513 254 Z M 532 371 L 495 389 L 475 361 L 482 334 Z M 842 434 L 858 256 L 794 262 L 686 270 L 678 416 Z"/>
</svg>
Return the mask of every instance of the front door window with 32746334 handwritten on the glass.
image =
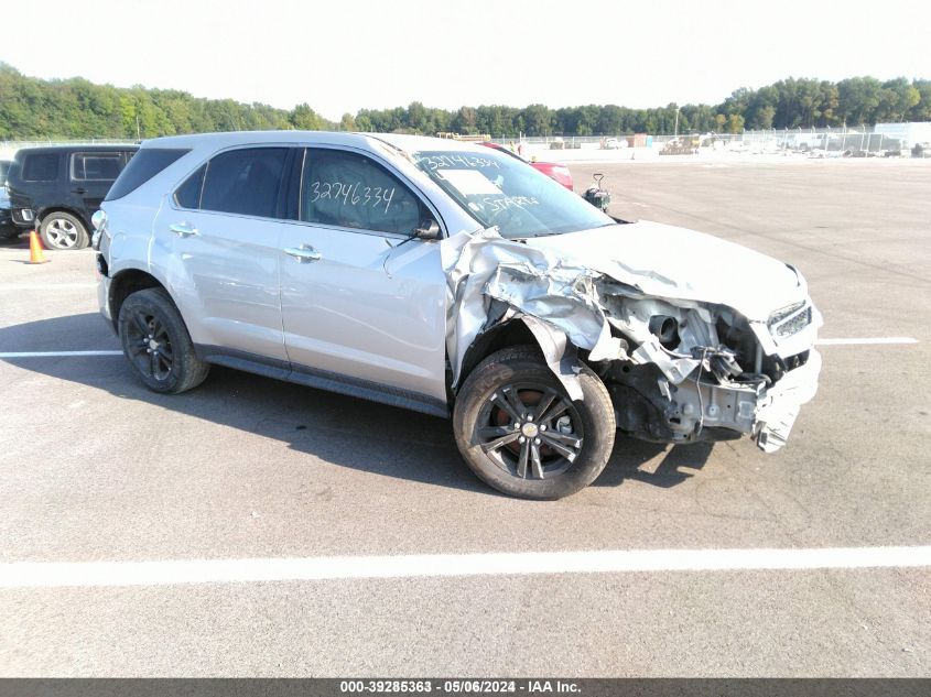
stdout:
<svg viewBox="0 0 931 697">
<path fill-rule="evenodd" d="M 411 189 L 369 157 L 307 150 L 301 220 L 410 236 L 430 217 Z"/>
</svg>

